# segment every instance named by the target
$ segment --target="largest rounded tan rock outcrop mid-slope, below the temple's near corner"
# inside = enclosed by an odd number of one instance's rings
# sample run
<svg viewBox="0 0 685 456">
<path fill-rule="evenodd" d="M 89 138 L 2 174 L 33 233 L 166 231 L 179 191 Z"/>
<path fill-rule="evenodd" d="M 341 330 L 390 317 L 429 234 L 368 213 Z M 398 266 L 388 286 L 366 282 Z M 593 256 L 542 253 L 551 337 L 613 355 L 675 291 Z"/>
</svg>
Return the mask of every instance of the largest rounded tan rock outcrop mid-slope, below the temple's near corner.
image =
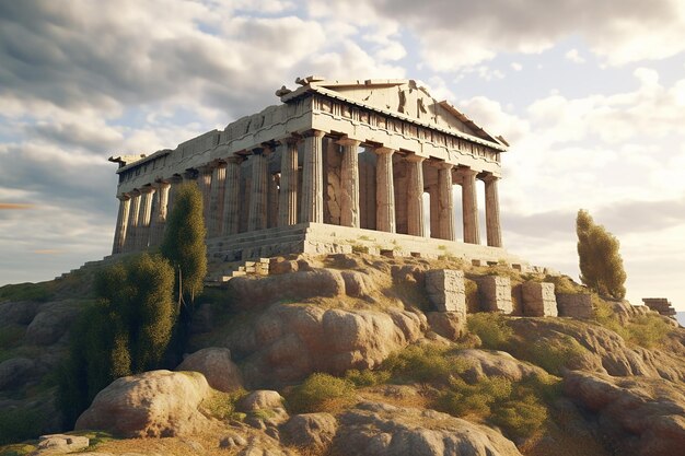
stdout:
<svg viewBox="0 0 685 456">
<path fill-rule="evenodd" d="M 325 308 L 277 304 L 224 344 L 246 356 L 252 387 L 298 382 L 313 372 L 342 374 L 378 366 L 387 355 L 420 339 L 426 317 L 408 311 Z"/>
</svg>

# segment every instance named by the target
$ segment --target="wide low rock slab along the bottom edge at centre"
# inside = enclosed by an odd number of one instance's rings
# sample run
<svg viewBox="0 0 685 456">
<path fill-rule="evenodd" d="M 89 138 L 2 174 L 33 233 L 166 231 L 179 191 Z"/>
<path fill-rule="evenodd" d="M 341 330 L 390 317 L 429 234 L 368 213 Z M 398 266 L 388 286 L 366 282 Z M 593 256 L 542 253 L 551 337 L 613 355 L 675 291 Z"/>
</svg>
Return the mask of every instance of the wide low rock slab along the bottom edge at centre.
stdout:
<svg viewBox="0 0 685 456">
<path fill-rule="evenodd" d="M 434 410 L 363 402 L 340 416 L 334 446 L 346 455 L 520 456 L 499 432 Z"/>
</svg>

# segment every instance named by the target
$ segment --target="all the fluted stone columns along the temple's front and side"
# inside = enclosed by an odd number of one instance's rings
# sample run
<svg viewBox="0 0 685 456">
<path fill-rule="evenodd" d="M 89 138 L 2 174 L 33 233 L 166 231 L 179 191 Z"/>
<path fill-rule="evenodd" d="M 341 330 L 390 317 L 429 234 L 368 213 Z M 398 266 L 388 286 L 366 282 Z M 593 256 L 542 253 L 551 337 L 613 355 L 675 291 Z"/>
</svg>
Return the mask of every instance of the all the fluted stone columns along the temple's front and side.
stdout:
<svg viewBox="0 0 685 456">
<path fill-rule="evenodd" d="M 324 169 L 323 169 L 324 132 L 311 130 L 303 138 L 285 140 L 286 148 L 281 153 L 280 192 L 278 194 L 278 226 L 292 225 L 298 222 L 324 222 Z M 304 141 L 301 204 L 298 213 L 298 194 L 300 192 L 298 176 L 298 142 Z M 340 167 L 340 224 L 360 227 L 359 202 L 359 156 L 360 141 L 344 138 L 337 141 L 341 145 L 342 160 Z M 275 184 L 270 182 L 267 155 L 272 145 L 263 144 L 252 150 L 252 175 L 249 204 L 247 212 L 247 230 L 256 231 L 267 227 L 267 214 L 270 212 L 268 201 L 276 201 Z M 393 155 L 390 148 L 375 148 L 376 154 L 376 230 L 388 233 L 396 232 L 395 188 L 393 178 Z M 245 160 L 233 155 L 214 164 L 198 169 L 196 178 L 202 194 L 204 214 L 207 221 L 208 235 L 228 236 L 240 231 L 240 195 L 241 163 Z M 408 166 L 407 214 L 408 234 L 427 236 L 423 210 L 423 161 L 418 155 L 406 156 Z M 454 165 L 445 162 L 437 164 L 437 195 L 431 195 L 431 210 L 437 210 L 437 229 L 433 237 L 455 241 L 454 201 L 452 197 Z M 456 184 L 462 186 L 462 207 L 464 223 L 464 242 L 479 244 L 478 203 L 476 198 L 477 172 L 460 167 L 456 169 Z M 141 250 L 161 243 L 166 222 L 167 208 L 173 206 L 174 189 L 182 180 L 176 175 L 169 182 L 159 182 L 154 186 L 146 186 L 119 197 L 119 213 L 114 241 L 114 253 Z M 498 178 L 488 175 L 485 180 L 487 244 L 501 247 L 499 224 Z M 170 192 L 171 188 L 171 192 Z M 269 198 L 269 192 L 271 197 Z M 434 197 L 434 199 L 433 199 Z M 432 212 L 432 211 L 431 211 Z M 432 224 L 431 224 L 432 225 Z"/>
</svg>

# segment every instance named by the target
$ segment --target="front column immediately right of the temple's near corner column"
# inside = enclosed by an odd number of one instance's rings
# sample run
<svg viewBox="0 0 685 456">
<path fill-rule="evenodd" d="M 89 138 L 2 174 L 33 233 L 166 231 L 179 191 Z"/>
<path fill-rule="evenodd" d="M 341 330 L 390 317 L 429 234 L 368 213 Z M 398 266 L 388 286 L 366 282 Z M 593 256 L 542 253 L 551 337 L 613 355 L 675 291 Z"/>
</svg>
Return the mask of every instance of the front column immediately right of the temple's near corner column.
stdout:
<svg viewBox="0 0 685 456">
<path fill-rule="evenodd" d="M 340 164 L 340 225 L 360 227 L 359 213 L 359 144 L 361 141 L 345 138 L 338 141 L 342 145 Z"/>
</svg>

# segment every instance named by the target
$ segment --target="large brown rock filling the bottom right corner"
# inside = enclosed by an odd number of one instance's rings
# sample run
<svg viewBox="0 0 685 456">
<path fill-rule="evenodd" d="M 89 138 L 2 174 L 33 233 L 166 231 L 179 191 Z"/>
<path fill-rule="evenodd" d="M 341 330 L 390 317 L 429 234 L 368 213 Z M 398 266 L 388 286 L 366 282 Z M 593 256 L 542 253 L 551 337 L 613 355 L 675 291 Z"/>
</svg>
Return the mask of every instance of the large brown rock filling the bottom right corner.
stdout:
<svg viewBox="0 0 685 456">
<path fill-rule="evenodd" d="M 671 456 L 685 448 L 685 387 L 663 379 L 614 378 L 571 372 L 568 396 L 596 413 L 597 425 L 622 454 Z"/>
</svg>

